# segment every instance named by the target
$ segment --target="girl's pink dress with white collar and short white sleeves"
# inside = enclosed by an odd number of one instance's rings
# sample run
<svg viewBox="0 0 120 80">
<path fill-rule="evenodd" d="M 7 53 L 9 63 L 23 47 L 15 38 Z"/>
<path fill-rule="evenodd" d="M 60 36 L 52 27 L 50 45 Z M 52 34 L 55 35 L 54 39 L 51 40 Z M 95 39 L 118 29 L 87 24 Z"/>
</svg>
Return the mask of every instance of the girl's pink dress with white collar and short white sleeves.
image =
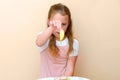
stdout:
<svg viewBox="0 0 120 80">
<path fill-rule="evenodd" d="M 40 66 L 40 78 L 46 77 L 60 77 L 63 76 L 66 71 L 67 66 L 67 52 L 69 49 L 68 38 L 65 38 L 63 41 L 57 41 L 56 45 L 59 48 L 59 57 L 54 58 L 48 48 L 49 40 L 40 47 L 41 55 L 41 66 Z M 73 42 L 73 52 L 70 56 L 78 55 L 79 44 L 76 39 Z"/>
</svg>

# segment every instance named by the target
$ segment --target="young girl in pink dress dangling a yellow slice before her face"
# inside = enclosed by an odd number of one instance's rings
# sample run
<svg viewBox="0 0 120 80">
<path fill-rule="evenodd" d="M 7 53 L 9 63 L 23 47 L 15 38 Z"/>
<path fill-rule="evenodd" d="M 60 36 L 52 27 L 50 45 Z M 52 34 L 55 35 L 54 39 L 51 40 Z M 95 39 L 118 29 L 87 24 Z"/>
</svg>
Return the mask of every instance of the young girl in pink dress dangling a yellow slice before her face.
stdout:
<svg viewBox="0 0 120 80">
<path fill-rule="evenodd" d="M 36 39 L 41 55 L 40 78 L 72 76 L 79 43 L 73 38 L 69 9 L 61 3 L 52 5 L 47 25 Z M 65 32 L 63 40 L 60 40 L 61 29 Z"/>
</svg>

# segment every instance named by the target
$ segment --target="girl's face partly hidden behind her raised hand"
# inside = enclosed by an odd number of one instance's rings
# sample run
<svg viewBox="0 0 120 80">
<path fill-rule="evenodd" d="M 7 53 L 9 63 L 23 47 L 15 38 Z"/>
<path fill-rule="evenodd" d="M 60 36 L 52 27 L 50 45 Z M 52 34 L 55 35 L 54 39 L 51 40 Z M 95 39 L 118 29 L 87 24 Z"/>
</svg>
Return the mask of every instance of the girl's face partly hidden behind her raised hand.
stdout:
<svg viewBox="0 0 120 80">
<path fill-rule="evenodd" d="M 61 24 L 61 29 L 63 29 L 64 32 L 66 32 L 66 30 L 68 28 L 68 25 L 69 25 L 69 17 L 68 17 L 68 15 L 63 16 L 60 13 L 56 13 L 56 14 L 51 15 L 49 21 L 59 21 L 60 24 Z M 56 26 L 54 26 L 54 27 L 56 27 Z M 53 34 L 56 37 L 56 39 L 59 40 L 60 39 L 60 28 L 55 28 L 53 30 Z"/>
</svg>

